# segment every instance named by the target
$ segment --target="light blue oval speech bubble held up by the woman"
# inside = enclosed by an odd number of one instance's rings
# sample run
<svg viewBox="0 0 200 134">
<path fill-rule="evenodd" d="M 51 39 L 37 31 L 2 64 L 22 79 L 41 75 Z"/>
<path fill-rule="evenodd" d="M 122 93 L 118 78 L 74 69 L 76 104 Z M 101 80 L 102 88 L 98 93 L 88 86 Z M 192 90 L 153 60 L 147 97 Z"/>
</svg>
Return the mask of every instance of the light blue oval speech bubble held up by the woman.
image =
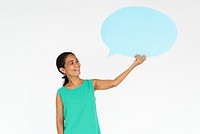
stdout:
<svg viewBox="0 0 200 134">
<path fill-rule="evenodd" d="M 146 54 L 157 56 L 173 46 L 177 37 L 174 22 L 157 10 L 133 6 L 122 8 L 108 16 L 101 28 L 109 55 Z"/>
</svg>

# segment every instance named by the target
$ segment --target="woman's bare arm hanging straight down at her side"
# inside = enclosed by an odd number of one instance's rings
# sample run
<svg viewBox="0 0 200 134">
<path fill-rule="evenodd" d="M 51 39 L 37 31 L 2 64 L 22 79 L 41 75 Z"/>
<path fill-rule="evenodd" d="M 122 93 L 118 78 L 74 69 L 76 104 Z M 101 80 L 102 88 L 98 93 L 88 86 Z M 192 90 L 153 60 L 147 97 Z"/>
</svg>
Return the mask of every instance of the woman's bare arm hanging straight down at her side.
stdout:
<svg viewBox="0 0 200 134">
<path fill-rule="evenodd" d="M 57 126 L 57 132 L 58 134 L 63 134 L 63 126 L 64 120 L 63 120 L 63 104 L 60 96 L 56 95 L 56 126 Z"/>
</svg>

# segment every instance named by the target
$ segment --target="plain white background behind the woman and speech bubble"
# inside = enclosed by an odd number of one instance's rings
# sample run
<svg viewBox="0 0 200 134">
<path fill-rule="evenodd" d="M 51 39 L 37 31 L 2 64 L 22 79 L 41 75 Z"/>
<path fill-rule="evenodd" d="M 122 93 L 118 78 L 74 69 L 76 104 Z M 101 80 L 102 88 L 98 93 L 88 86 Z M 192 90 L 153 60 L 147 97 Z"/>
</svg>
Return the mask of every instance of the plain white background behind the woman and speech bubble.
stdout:
<svg viewBox="0 0 200 134">
<path fill-rule="evenodd" d="M 200 133 L 198 0 L 0 1 L 0 133 L 55 134 L 55 96 L 64 51 L 79 58 L 81 78 L 113 79 L 134 58 L 116 54 L 100 35 L 105 18 L 146 6 L 172 18 L 175 45 L 135 68 L 118 87 L 97 91 L 102 134 Z"/>
</svg>

